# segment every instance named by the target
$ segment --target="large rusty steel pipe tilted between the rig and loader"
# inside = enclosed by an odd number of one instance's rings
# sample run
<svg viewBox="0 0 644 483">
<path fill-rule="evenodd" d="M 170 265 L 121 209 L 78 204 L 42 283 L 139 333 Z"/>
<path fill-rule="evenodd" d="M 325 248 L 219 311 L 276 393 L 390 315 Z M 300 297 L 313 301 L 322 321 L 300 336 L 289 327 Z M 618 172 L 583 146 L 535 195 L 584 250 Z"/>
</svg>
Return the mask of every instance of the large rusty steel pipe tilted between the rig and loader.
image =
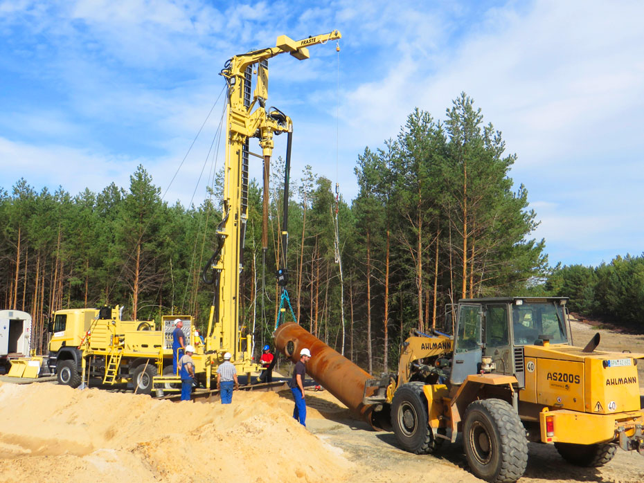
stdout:
<svg viewBox="0 0 644 483">
<path fill-rule="evenodd" d="M 371 379 L 368 372 L 361 370 L 295 322 L 287 322 L 278 327 L 275 346 L 294 363 L 300 360 L 301 349 L 310 349 L 312 357 L 306 363 L 307 374 L 372 428 L 384 428 L 384 424 L 379 421 L 380 414 L 375 414 L 375 406 L 362 403 L 365 383 L 367 379 Z"/>
</svg>

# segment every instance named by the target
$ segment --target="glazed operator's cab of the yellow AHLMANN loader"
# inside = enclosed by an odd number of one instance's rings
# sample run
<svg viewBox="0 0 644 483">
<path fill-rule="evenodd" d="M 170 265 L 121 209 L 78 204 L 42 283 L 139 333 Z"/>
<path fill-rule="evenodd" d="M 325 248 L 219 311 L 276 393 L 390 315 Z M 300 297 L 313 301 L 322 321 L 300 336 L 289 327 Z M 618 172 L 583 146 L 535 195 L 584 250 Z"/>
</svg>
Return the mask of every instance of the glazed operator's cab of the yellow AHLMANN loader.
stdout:
<svg viewBox="0 0 644 483">
<path fill-rule="evenodd" d="M 485 298 L 458 302 L 450 382 L 481 370 L 517 376 L 523 385 L 523 347 L 570 344 L 567 298 Z M 490 363 L 482 367 L 483 358 Z"/>
</svg>

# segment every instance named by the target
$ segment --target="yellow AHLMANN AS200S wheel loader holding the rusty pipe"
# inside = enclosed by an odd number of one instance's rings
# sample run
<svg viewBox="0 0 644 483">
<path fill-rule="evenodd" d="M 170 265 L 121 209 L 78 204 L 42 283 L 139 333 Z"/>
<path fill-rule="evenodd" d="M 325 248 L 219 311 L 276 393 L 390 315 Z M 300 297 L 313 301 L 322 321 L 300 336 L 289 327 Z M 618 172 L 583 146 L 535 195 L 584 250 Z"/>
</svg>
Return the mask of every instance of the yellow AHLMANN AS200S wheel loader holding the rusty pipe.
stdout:
<svg viewBox="0 0 644 483">
<path fill-rule="evenodd" d="M 366 382 L 364 404 L 389 410 L 411 453 L 461 434 L 472 473 L 491 483 L 519 480 L 528 441 L 554 444 L 580 466 L 607 464 L 618 448 L 644 455 L 636 367 L 644 354 L 600 352 L 599 334 L 575 347 L 567 300 L 460 300 L 453 343 L 413 334 L 397 374 Z"/>
</svg>

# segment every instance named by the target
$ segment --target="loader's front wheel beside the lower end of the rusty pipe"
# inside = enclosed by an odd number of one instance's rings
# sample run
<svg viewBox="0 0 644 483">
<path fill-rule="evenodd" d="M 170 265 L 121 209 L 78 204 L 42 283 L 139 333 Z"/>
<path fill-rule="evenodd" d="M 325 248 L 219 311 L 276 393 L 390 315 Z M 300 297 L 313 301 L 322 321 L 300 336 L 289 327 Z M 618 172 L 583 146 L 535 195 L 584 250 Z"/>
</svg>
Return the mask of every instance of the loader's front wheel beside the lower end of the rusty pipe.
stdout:
<svg viewBox="0 0 644 483">
<path fill-rule="evenodd" d="M 406 383 L 398 388 L 391 401 L 391 426 L 404 450 L 416 455 L 434 453 L 442 444 L 429 428 L 424 383 Z"/>
</svg>

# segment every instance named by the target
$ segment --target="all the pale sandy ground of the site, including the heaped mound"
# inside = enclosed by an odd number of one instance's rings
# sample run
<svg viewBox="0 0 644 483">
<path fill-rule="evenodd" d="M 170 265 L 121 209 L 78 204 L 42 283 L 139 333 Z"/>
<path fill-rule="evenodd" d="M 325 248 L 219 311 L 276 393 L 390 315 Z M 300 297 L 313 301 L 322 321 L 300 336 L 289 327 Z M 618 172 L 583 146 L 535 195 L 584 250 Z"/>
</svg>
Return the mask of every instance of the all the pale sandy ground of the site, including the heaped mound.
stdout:
<svg viewBox="0 0 644 483">
<path fill-rule="evenodd" d="M 644 353 L 644 336 L 573 321 L 576 345 Z M 639 370 L 644 370 L 640 364 Z M 644 374 L 640 372 L 644 394 Z M 307 428 L 289 391 L 235 392 L 232 405 L 159 401 L 132 393 L 0 383 L 0 482 L 481 482 L 460 440 L 436 455 L 398 448 L 326 391 L 307 389 Z M 564 462 L 530 444 L 521 482 L 644 482 L 644 458 L 619 450 L 603 468 Z"/>
</svg>

